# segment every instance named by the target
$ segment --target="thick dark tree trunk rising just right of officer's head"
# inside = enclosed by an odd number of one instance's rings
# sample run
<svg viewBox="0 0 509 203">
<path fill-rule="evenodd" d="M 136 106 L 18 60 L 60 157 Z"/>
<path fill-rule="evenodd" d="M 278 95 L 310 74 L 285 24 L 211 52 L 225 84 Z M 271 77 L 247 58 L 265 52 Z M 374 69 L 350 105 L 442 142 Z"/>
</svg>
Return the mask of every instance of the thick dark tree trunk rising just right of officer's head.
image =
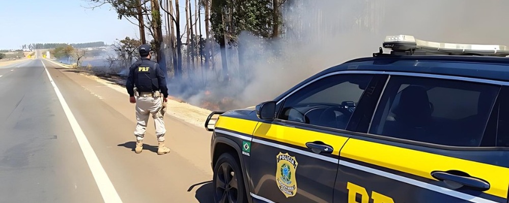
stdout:
<svg viewBox="0 0 509 203">
<path fill-rule="evenodd" d="M 154 30 L 154 43 L 157 52 L 157 62 L 161 67 L 161 70 L 164 73 L 164 76 L 168 77 L 168 71 L 166 67 L 166 54 L 164 53 L 163 38 L 162 38 L 162 22 L 161 22 L 161 13 L 159 8 L 159 0 L 151 0 L 151 8 L 152 8 L 152 26 Z"/>
</svg>

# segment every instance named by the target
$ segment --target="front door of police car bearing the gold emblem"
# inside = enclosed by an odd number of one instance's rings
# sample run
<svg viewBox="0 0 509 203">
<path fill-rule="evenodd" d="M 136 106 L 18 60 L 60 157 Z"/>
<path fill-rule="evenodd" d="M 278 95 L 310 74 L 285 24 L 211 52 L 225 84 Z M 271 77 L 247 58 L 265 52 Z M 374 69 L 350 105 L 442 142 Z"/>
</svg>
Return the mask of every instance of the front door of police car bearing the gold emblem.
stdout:
<svg viewBox="0 0 509 203">
<path fill-rule="evenodd" d="M 333 73 L 279 101 L 277 118 L 253 133 L 254 200 L 332 202 L 340 149 L 355 106 L 373 75 Z"/>
</svg>

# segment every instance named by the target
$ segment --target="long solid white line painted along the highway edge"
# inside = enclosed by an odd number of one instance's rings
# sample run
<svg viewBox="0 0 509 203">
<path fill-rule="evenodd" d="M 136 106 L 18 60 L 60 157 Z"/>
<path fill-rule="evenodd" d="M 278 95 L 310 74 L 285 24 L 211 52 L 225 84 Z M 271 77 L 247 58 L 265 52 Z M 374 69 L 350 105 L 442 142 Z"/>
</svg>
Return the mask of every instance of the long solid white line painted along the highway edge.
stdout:
<svg viewBox="0 0 509 203">
<path fill-rule="evenodd" d="M 79 147 L 81 148 L 81 152 L 83 152 L 83 155 L 87 160 L 90 171 L 92 172 L 92 176 L 94 176 L 97 187 L 99 187 L 99 191 L 101 192 L 104 202 L 122 202 L 119 194 L 117 193 L 117 190 L 109 180 L 106 171 L 104 171 L 101 162 L 99 162 L 99 158 L 97 158 L 94 149 L 92 149 L 92 146 L 90 145 L 87 137 L 83 133 L 83 130 L 81 130 L 78 121 L 76 120 L 76 118 L 71 112 L 71 109 L 67 105 L 64 96 L 62 95 L 59 88 L 56 86 L 55 82 L 51 78 L 51 75 L 49 75 L 48 69 L 46 69 L 46 65 L 44 64 L 44 62 L 42 62 L 42 65 L 46 70 L 46 74 L 48 74 L 49 81 L 51 82 L 51 85 L 55 90 L 56 96 L 60 100 L 60 104 L 62 105 L 62 108 L 64 109 L 64 112 L 67 116 L 67 120 L 69 120 L 69 124 L 71 124 L 74 136 L 78 141 Z"/>
</svg>

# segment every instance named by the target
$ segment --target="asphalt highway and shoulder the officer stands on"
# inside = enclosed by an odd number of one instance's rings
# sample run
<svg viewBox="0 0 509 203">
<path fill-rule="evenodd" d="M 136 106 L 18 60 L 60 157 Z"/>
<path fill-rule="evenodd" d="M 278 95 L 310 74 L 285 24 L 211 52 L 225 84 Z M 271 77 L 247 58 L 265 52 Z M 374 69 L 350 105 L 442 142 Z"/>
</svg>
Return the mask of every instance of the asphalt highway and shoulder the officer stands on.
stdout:
<svg viewBox="0 0 509 203">
<path fill-rule="evenodd" d="M 166 115 L 157 155 L 151 119 L 135 154 L 128 96 L 40 58 L 0 66 L 0 95 L 0 202 L 212 202 L 203 128 Z"/>
</svg>

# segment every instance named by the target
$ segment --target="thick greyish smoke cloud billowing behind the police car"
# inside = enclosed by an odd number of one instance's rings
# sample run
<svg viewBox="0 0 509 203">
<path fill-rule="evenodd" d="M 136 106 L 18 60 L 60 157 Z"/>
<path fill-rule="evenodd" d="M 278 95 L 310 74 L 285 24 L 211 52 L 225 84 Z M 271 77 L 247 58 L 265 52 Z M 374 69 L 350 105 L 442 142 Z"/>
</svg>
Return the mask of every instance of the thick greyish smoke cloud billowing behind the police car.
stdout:
<svg viewBox="0 0 509 203">
<path fill-rule="evenodd" d="M 266 40 L 242 32 L 238 45 L 245 57 L 239 61 L 237 49 L 228 49 L 228 86 L 207 83 L 203 91 L 184 91 L 182 97 L 202 106 L 207 99 L 227 104 L 219 105 L 221 110 L 254 106 L 328 67 L 371 56 L 387 35 L 509 45 L 508 6 L 509 1 L 473 0 L 288 1 L 281 38 Z M 216 54 L 220 70 L 219 51 Z M 209 81 L 217 77 L 214 71 L 205 75 Z"/>
</svg>

